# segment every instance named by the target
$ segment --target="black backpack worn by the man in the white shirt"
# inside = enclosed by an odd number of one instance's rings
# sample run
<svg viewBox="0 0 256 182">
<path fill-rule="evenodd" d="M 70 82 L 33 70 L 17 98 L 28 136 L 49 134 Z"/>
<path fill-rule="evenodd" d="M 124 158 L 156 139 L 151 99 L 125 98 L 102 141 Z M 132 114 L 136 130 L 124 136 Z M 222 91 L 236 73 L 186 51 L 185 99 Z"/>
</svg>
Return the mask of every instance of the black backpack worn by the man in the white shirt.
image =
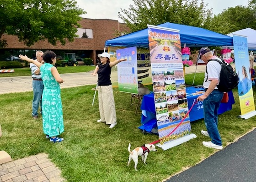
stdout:
<svg viewBox="0 0 256 182">
<path fill-rule="evenodd" d="M 239 77 L 237 73 L 233 70 L 233 67 L 231 65 L 228 65 L 223 60 L 221 60 L 222 62 L 217 59 L 210 59 L 209 61 L 218 61 L 219 64 L 221 64 L 219 85 L 217 85 L 219 91 L 228 92 L 234 89 L 235 87 L 237 87 L 239 82 Z M 207 69 L 206 69 L 206 73 L 207 73 Z"/>
</svg>

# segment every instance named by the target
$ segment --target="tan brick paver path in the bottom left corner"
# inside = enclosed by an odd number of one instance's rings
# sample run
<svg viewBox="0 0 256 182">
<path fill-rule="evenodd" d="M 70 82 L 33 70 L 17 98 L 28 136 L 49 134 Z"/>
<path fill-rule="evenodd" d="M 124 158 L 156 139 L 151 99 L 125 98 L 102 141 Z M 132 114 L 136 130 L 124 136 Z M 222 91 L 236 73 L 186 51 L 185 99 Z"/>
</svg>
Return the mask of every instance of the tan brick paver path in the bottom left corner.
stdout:
<svg viewBox="0 0 256 182">
<path fill-rule="evenodd" d="M 40 153 L 0 165 L 0 182 L 63 182 L 48 155 Z"/>
</svg>

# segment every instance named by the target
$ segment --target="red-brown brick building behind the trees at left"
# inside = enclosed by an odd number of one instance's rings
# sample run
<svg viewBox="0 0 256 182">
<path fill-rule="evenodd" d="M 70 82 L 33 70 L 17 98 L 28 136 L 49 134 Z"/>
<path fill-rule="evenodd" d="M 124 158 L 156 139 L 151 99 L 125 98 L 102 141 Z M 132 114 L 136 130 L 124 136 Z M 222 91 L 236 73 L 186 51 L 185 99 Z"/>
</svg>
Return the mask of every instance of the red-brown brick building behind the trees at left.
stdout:
<svg viewBox="0 0 256 182">
<path fill-rule="evenodd" d="M 15 60 L 19 54 L 35 57 L 37 50 L 52 50 L 57 56 L 62 57 L 65 53 L 75 52 L 76 56 L 91 58 L 96 64 L 97 55 L 103 52 L 105 41 L 117 37 L 116 30 L 128 31 L 126 24 L 119 23 L 117 20 L 82 18 L 79 24 L 81 25 L 77 31 L 79 38 L 75 38 L 73 42 L 67 41 L 65 45 L 59 42 L 54 46 L 44 40 L 28 47 L 23 42 L 19 42 L 17 36 L 4 34 L 2 39 L 7 40 L 8 46 L 0 49 L 0 61 Z"/>
</svg>

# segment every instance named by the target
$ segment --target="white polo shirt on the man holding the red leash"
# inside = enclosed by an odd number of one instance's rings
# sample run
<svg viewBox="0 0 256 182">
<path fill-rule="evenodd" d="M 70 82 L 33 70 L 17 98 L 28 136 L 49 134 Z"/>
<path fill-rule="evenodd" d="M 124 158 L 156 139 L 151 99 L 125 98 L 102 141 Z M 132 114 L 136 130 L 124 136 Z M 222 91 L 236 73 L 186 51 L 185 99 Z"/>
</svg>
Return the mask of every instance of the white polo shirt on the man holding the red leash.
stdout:
<svg viewBox="0 0 256 182">
<path fill-rule="evenodd" d="M 211 59 L 218 59 L 219 61 L 221 61 L 221 59 L 219 59 L 217 56 L 213 56 L 213 57 L 211 57 Z M 207 63 L 206 69 L 207 69 L 208 73 L 206 73 L 206 71 L 205 71 L 204 81 L 203 81 L 203 88 L 205 88 L 205 89 L 209 88 L 212 80 L 219 81 L 221 65 L 219 64 L 218 61 L 212 60 Z M 206 79 L 207 79 L 207 81 L 206 81 Z M 217 85 L 219 85 L 219 83 Z M 218 89 L 217 86 L 214 89 Z"/>
</svg>

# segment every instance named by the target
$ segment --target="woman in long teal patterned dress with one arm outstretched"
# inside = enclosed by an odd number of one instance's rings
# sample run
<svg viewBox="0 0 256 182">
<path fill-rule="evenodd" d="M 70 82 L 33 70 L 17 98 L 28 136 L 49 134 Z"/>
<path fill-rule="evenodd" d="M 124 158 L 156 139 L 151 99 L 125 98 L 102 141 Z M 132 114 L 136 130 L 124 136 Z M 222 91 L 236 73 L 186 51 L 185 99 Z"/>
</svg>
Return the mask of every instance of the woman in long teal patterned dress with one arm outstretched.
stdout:
<svg viewBox="0 0 256 182">
<path fill-rule="evenodd" d="M 42 96 L 43 132 L 46 134 L 46 138 L 50 138 L 50 142 L 62 142 L 64 138 L 57 136 L 64 131 L 59 87 L 59 83 L 63 83 L 63 79 L 57 68 L 53 66 L 56 63 L 56 54 L 53 51 L 45 51 L 43 54 L 44 64 L 30 59 L 26 55 L 19 57 L 21 60 L 31 62 L 40 68 L 44 86 Z"/>
</svg>

